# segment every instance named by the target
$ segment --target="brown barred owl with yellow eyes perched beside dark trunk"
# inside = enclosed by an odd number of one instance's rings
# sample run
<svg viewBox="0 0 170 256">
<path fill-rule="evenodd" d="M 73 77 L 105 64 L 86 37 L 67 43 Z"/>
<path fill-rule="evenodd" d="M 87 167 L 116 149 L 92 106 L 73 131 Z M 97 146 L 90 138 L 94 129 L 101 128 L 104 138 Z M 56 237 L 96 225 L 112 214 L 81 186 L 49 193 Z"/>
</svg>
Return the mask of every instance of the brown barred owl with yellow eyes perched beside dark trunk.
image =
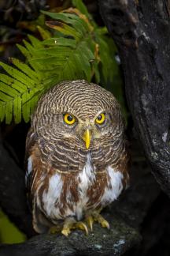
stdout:
<svg viewBox="0 0 170 256">
<path fill-rule="evenodd" d="M 127 142 L 111 92 L 64 81 L 39 100 L 26 142 L 26 182 L 38 233 L 88 233 L 128 183 Z"/>
</svg>

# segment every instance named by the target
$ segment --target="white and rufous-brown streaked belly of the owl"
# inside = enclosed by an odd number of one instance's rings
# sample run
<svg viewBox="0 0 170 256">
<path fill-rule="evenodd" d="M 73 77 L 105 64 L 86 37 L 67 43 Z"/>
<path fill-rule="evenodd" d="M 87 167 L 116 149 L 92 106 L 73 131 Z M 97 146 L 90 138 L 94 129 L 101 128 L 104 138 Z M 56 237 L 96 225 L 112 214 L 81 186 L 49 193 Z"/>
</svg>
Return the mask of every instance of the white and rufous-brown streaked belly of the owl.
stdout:
<svg viewBox="0 0 170 256">
<path fill-rule="evenodd" d="M 107 167 L 102 174 L 96 172 L 87 156 L 83 171 L 62 178 L 60 174 L 50 177 L 49 187 L 42 194 L 43 212 L 53 220 L 76 216 L 78 220 L 89 209 L 104 207 L 114 201 L 123 189 L 123 175 Z"/>
</svg>

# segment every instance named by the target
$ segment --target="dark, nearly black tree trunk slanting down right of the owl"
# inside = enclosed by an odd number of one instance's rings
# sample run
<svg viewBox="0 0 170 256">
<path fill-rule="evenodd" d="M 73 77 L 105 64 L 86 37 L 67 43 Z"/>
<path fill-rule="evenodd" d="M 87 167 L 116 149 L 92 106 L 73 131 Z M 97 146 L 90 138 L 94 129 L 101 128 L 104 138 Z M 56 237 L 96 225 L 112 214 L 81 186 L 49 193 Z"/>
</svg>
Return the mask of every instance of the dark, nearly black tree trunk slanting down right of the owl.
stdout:
<svg viewBox="0 0 170 256">
<path fill-rule="evenodd" d="M 170 1 L 99 0 L 99 6 L 120 53 L 135 129 L 170 196 Z"/>
</svg>

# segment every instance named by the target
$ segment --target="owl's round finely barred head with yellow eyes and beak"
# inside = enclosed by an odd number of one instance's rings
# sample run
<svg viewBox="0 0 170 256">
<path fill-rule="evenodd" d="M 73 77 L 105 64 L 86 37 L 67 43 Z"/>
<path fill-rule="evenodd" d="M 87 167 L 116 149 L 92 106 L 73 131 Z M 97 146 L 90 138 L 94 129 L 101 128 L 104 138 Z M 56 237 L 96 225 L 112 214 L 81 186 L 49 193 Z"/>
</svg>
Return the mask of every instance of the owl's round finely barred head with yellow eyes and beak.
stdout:
<svg viewBox="0 0 170 256">
<path fill-rule="evenodd" d="M 84 80 L 64 81 L 51 88 L 32 116 L 39 136 L 91 149 L 122 136 L 120 105 L 111 92 Z"/>
</svg>

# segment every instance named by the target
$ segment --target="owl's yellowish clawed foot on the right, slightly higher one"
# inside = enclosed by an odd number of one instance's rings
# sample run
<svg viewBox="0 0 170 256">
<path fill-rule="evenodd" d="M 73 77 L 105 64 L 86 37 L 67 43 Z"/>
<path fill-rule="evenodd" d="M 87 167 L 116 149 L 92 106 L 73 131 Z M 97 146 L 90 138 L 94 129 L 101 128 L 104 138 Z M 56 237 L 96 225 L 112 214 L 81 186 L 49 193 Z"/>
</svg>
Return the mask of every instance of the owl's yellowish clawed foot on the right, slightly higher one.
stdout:
<svg viewBox="0 0 170 256">
<path fill-rule="evenodd" d="M 92 212 L 86 216 L 86 221 L 88 226 L 91 228 L 91 231 L 93 231 L 93 224 L 94 221 L 97 221 L 99 224 L 102 225 L 102 228 L 108 228 L 109 229 L 109 222 L 105 220 L 102 215 L 98 212 Z"/>
</svg>

